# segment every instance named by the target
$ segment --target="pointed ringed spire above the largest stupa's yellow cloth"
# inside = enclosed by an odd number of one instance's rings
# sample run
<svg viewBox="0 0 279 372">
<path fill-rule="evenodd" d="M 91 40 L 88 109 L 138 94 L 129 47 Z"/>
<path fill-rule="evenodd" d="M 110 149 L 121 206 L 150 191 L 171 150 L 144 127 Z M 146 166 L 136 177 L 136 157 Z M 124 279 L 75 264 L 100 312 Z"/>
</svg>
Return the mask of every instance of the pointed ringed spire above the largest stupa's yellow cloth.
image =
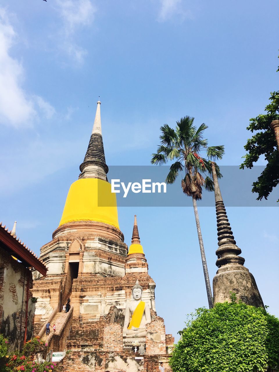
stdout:
<svg viewBox="0 0 279 372">
<path fill-rule="evenodd" d="M 109 171 L 103 145 L 100 105 L 101 102 L 98 101 L 92 134 L 83 163 L 80 165 L 81 173 L 78 178 L 106 180 L 106 173 Z"/>
</svg>

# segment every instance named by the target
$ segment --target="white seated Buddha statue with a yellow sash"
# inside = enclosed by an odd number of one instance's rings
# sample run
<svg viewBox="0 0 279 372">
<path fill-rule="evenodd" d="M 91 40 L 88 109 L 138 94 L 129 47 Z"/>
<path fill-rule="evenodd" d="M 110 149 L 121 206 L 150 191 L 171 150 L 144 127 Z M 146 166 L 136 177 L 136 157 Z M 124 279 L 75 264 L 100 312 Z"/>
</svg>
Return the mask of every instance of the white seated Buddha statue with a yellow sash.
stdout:
<svg viewBox="0 0 279 372">
<path fill-rule="evenodd" d="M 132 294 L 133 301 L 126 304 L 123 337 L 145 337 L 145 324 L 151 322 L 151 315 L 149 305 L 141 301 L 142 286 L 138 280 L 132 288 Z"/>
</svg>

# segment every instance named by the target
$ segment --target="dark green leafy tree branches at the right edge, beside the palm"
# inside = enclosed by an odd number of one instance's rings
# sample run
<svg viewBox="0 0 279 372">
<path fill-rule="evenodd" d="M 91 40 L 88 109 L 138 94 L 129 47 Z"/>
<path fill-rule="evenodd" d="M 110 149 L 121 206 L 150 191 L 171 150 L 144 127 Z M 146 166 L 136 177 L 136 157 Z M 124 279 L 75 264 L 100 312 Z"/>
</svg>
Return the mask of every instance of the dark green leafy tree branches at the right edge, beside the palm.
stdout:
<svg viewBox="0 0 279 372">
<path fill-rule="evenodd" d="M 270 94 L 271 102 L 264 109 L 266 114 L 250 119 L 250 125 L 247 126 L 248 131 L 259 132 L 247 140 L 244 149 L 248 151 L 248 154 L 244 155 L 244 161 L 240 166 L 241 169 L 244 167 L 251 169 L 253 164 L 259 160 L 260 155 L 264 155 L 267 165 L 257 181 L 252 184 L 252 192 L 258 194 L 257 200 L 267 199 L 273 187 L 279 183 L 279 149 L 276 149 L 275 134 L 270 126 L 273 120 L 279 120 L 279 91 Z"/>
</svg>

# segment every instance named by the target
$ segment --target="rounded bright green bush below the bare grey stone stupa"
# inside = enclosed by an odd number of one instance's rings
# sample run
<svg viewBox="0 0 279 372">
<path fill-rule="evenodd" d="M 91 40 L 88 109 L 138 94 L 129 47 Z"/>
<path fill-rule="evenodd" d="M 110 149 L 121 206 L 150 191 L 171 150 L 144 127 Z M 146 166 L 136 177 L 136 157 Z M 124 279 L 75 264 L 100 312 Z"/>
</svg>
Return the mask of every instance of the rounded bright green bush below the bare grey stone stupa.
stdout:
<svg viewBox="0 0 279 372">
<path fill-rule="evenodd" d="M 242 302 L 199 308 L 170 358 L 173 372 L 272 372 L 279 366 L 279 319 Z"/>
</svg>

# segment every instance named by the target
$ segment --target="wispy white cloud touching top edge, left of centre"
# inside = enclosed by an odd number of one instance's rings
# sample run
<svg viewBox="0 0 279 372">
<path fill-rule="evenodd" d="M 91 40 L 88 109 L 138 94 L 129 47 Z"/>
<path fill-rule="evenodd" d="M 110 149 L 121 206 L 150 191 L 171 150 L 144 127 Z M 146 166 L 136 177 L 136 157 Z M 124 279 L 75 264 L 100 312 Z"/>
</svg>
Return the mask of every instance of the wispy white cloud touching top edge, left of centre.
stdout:
<svg viewBox="0 0 279 372">
<path fill-rule="evenodd" d="M 97 9 L 90 0 L 56 0 L 56 3 L 63 20 L 61 47 L 82 64 L 87 51 L 76 44 L 74 36 L 78 29 L 92 24 Z"/>
</svg>

